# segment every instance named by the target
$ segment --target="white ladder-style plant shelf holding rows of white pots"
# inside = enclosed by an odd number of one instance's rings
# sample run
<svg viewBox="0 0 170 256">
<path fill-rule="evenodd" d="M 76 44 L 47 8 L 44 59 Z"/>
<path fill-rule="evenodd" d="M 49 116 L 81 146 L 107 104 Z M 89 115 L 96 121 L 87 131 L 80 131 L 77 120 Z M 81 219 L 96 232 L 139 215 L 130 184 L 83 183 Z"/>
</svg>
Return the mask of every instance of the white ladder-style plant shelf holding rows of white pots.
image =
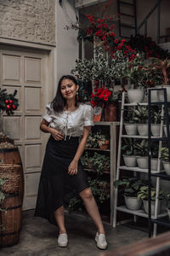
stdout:
<svg viewBox="0 0 170 256">
<path fill-rule="evenodd" d="M 149 92 L 150 93 L 150 92 Z M 151 175 L 152 176 L 156 176 L 156 195 L 158 195 L 159 193 L 159 179 L 160 179 L 160 175 L 161 175 L 161 170 L 160 170 L 160 166 L 161 166 L 161 160 L 158 159 L 158 168 L 157 168 L 157 171 L 152 171 L 150 170 L 149 172 L 149 169 L 140 169 L 139 167 L 127 167 L 127 166 L 121 166 L 121 150 L 122 150 L 122 137 L 133 137 L 133 138 L 140 138 L 140 139 L 148 139 L 149 141 L 151 142 L 155 142 L 155 141 L 158 141 L 159 142 L 159 156 L 160 157 L 161 153 L 160 153 L 160 148 L 161 148 L 161 143 L 163 141 L 167 141 L 167 138 L 165 137 L 162 137 L 162 129 L 163 129 L 163 120 L 161 120 L 161 131 L 160 131 L 160 137 L 151 137 L 151 131 L 150 131 L 150 137 L 147 136 L 147 137 L 142 137 L 142 136 L 139 136 L 139 135 L 136 135 L 136 136 L 128 136 L 128 135 L 124 135 L 122 134 L 122 128 L 123 128 L 123 112 L 124 112 L 124 107 L 127 106 L 127 107 L 135 107 L 135 106 L 148 106 L 148 102 L 144 102 L 144 103 L 125 103 L 125 92 L 123 92 L 122 94 L 122 112 L 121 112 L 121 121 L 120 121 L 120 133 L 119 133 L 119 145 L 118 145 L 118 158 L 117 158 L 117 167 L 116 167 L 116 180 L 119 179 L 120 177 L 120 172 L 122 170 L 127 170 L 129 172 L 143 172 L 143 173 L 148 173 L 148 176 L 150 176 L 151 178 Z M 157 102 L 153 103 L 156 105 Z M 158 104 L 161 104 L 163 105 L 163 102 L 159 102 Z M 163 114 L 163 110 L 161 111 L 161 114 Z M 148 129 L 150 129 L 150 122 L 149 122 L 149 125 L 148 125 Z M 149 151 L 150 152 L 150 151 Z M 149 186 L 150 187 L 150 186 Z M 150 192 L 150 188 L 149 188 L 149 192 Z M 151 230 L 151 222 L 154 222 L 155 225 L 154 225 L 154 233 L 156 233 L 156 222 L 158 222 L 159 219 L 162 219 L 164 217 L 167 216 L 167 212 L 162 212 L 161 214 L 157 214 L 157 207 L 158 207 L 158 200 L 156 200 L 156 207 L 155 207 L 155 214 L 154 216 L 151 216 L 151 209 L 149 207 L 149 214 L 145 213 L 144 210 L 138 210 L 138 211 L 132 211 L 132 210 L 129 210 L 127 209 L 127 207 L 125 206 L 121 206 L 121 207 L 117 207 L 117 198 L 118 198 L 118 188 L 115 189 L 115 204 L 114 204 L 114 215 L 113 215 L 113 227 L 116 227 L 116 212 L 117 211 L 120 211 L 120 212 L 127 212 L 127 213 L 130 213 L 130 214 L 133 214 L 134 216 L 134 220 L 135 220 L 135 217 L 136 216 L 141 216 L 141 217 L 144 217 L 144 218 L 148 218 L 149 219 L 149 233 L 150 233 L 150 230 Z"/>
</svg>

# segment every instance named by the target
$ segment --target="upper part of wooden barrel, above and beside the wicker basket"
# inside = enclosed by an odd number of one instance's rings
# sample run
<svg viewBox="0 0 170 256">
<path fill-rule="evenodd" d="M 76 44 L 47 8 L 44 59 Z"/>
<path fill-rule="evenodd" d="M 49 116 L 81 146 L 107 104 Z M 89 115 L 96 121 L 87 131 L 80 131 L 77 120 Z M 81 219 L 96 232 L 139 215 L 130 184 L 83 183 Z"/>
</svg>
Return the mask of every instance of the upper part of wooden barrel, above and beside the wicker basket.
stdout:
<svg viewBox="0 0 170 256">
<path fill-rule="evenodd" d="M 20 199 L 23 202 L 24 196 L 24 173 L 22 168 L 22 162 L 20 158 L 19 148 L 16 146 L 11 146 L 12 148 L 2 148 L 2 143 L 0 144 L 0 159 L 3 164 L 15 164 L 20 165 Z"/>
</svg>

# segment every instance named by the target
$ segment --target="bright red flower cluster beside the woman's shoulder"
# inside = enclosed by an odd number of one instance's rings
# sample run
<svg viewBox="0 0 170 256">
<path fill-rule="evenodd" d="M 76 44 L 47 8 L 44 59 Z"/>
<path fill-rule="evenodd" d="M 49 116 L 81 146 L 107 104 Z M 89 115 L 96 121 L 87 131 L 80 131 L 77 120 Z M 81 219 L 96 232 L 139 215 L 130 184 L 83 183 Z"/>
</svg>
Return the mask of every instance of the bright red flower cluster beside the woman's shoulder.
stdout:
<svg viewBox="0 0 170 256">
<path fill-rule="evenodd" d="M 94 93 L 91 94 L 91 104 L 96 107 L 101 107 L 108 102 L 108 98 L 111 96 L 111 91 L 103 86 L 102 88 L 95 87 Z"/>
</svg>

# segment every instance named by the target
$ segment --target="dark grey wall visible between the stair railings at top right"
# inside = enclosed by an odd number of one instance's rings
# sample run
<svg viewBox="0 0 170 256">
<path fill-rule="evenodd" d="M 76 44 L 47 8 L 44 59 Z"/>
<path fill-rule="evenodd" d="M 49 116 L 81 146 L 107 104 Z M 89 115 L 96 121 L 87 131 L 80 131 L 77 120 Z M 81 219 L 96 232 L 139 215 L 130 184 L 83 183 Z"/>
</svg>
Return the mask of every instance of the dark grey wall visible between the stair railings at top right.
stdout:
<svg viewBox="0 0 170 256">
<path fill-rule="evenodd" d="M 157 0 L 141 1 L 137 0 L 137 22 L 138 25 L 144 20 L 144 17 L 150 12 L 150 9 L 156 4 Z M 166 28 L 170 27 L 170 1 L 161 1 L 161 35 L 166 34 Z M 140 33 L 144 33 L 144 29 Z M 156 40 L 157 36 L 157 9 L 150 16 L 148 21 L 148 35 Z"/>
</svg>

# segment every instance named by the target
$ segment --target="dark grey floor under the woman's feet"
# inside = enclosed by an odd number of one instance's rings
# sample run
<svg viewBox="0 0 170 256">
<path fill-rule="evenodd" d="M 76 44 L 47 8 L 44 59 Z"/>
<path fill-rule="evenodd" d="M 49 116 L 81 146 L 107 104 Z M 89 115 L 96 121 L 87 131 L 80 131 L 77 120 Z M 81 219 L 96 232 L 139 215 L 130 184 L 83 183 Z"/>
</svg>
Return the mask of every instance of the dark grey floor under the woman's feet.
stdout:
<svg viewBox="0 0 170 256">
<path fill-rule="evenodd" d="M 57 229 L 46 219 L 33 217 L 33 211 L 23 212 L 20 242 L 13 247 L 0 248 L 0 255 L 7 256 L 99 256 L 103 252 L 95 246 L 95 226 L 91 219 L 76 214 L 65 214 L 69 236 L 68 247 L 57 246 Z M 134 243 L 148 234 L 125 225 L 113 229 L 105 224 L 108 250 Z"/>
</svg>

